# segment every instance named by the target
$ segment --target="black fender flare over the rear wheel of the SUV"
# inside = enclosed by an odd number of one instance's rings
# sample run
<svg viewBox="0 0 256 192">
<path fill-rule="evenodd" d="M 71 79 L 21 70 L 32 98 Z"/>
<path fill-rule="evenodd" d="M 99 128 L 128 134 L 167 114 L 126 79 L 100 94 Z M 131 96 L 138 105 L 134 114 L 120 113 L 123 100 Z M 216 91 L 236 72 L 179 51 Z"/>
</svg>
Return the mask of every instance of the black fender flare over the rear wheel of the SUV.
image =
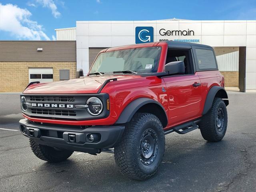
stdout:
<svg viewBox="0 0 256 192">
<path fill-rule="evenodd" d="M 224 100 L 224 102 L 225 102 L 226 106 L 228 106 L 228 100 L 227 100 L 228 94 L 227 94 L 226 90 L 220 86 L 212 86 L 212 88 L 210 88 L 210 90 L 206 96 L 206 100 L 204 103 L 204 110 L 203 110 L 202 115 L 206 114 L 210 110 L 210 108 L 212 107 L 213 100 L 216 95 L 217 95 L 217 97 L 226 99 L 226 100 Z"/>
</svg>

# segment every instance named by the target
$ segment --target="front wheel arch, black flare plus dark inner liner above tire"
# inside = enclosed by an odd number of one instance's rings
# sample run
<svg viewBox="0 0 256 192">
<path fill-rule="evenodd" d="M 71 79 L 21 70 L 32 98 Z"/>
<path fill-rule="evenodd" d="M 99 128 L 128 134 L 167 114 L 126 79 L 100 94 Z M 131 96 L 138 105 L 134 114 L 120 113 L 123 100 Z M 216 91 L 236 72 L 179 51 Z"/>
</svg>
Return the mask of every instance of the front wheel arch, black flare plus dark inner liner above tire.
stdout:
<svg viewBox="0 0 256 192">
<path fill-rule="evenodd" d="M 163 128 L 168 123 L 167 115 L 164 107 L 157 101 L 150 98 L 138 98 L 130 102 L 120 114 L 116 124 L 124 124 L 129 122 L 136 112 L 146 112 L 154 114 L 159 118 Z"/>
</svg>

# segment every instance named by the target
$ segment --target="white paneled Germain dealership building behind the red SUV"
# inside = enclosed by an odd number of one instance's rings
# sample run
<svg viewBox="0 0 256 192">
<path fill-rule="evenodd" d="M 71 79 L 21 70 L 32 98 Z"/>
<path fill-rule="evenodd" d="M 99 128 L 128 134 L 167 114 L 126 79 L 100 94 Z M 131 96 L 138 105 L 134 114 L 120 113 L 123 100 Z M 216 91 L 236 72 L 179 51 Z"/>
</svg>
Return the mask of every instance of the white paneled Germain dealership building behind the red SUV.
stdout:
<svg viewBox="0 0 256 192">
<path fill-rule="evenodd" d="M 214 47 L 220 71 L 236 72 L 246 91 L 256 90 L 256 20 L 77 21 L 76 28 L 56 33 L 57 40 L 76 40 L 77 69 L 86 74 L 103 48 L 135 44 L 136 27 L 152 27 L 150 38 L 141 36 L 144 42 L 176 40 Z"/>
</svg>

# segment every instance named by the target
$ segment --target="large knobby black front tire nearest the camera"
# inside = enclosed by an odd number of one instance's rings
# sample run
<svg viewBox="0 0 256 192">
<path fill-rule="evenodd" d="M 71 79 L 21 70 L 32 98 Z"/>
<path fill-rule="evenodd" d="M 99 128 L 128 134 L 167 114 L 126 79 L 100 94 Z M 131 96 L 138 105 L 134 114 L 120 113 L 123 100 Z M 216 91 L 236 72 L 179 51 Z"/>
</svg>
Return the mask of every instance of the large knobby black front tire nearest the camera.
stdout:
<svg viewBox="0 0 256 192">
<path fill-rule="evenodd" d="M 153 150 L 156 153 L 153 153 L 153 160 L 150 162 L 145 162 L 141 158 L 140 149 L 145 134 L 156 137 L 154 146 L 157 149 Z M 160 120 L 153 114 L 136 113 L 126 124 L 122 139 L 114 148 L 115 161 L 124 176 L 146 180 L 158 171 L 164 156 L 164 147 L 164 131 Z"/>
</svg>

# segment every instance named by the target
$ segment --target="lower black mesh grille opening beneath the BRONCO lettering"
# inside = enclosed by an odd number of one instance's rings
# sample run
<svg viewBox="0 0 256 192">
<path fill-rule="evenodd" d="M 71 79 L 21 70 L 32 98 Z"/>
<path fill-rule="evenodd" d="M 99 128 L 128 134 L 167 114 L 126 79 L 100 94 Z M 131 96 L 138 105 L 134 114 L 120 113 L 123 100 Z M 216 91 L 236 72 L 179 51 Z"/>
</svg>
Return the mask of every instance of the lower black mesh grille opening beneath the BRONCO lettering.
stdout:
<svg viewBox="0 0 256 192">
<path fill-rule="evenodd" d="M 63 115 L 63 116 L 76 116 L 74 110 L 59 110 L 59 109 L 31 109 L 32 114 L 45 114 L 45 115 Z"/>
</svg>

